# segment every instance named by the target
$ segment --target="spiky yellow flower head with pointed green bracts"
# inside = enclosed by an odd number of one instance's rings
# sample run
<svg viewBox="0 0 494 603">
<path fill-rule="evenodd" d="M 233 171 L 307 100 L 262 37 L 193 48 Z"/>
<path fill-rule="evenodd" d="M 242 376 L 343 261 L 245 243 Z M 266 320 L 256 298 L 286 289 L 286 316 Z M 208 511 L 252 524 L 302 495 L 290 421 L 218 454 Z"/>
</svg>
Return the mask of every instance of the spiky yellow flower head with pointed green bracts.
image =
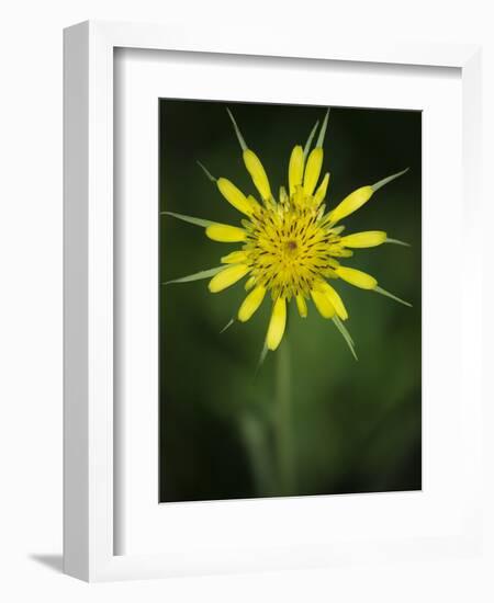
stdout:
<svg viewBox="0 0 494 603">
<path fill-rule="evenodd" d="M 228 111 L 228 110 L 227 110 Z M 326 212 L 325 198 L 329 173 L 321 179 L 323 143 L 329 110 L 327 110 L 315 147 L 311 150 L 318 123 L 314 126 L 304 148 L 296 145 L 288 169 L 288 191 L 280 189 L 278 201 L 271 192 L 268 175 L 257 155 L 247 147 L 232 115 L 245 167 L 258 192 L 258 197 L 245 195 L 225 178 L 214 178 L 201 164 L 223 197 L 244 215 L 240 225 L 212 223 L 182 214 L 165 212 L 184 221 L 205 228 L 213 241 L 240 243 L 239 249 L 224 255 L 218 268 L 206 270 L 177 282 L 211 277 L 209 289 L 218 293 L 247 277 L 248 295 L 242 303 L 237 319 L 246 322 L 269 296 L 272 303 L 271 318 L 266 335 L 265 352 L 279 346 L 287 325 L 287 306 L 293 299 L 302 318 L 307 316 L 307 303 L 313 302 L 323 318 L 332 319 L 355 354 L 353 341 L 343 321 L 348 318 L 345 304 L 329 281 L 343 280 L 351 285 L 381 293 L 401 302 L 398 297 L 378 286 L 378 281 L 353 268 L 341 264 L 351 258 L 353 249 L 377 247 L 385 242 L 400 244 L 382 230 L 343 235 L 340 221 L 362 207 L 372 195 L 392 180 L 404 174 L 403 170 L 375 184 L 361 186 L 345 197 L 334 209 Z M 228 323 L 228 326 L 233 320 Z"/>
</svg>

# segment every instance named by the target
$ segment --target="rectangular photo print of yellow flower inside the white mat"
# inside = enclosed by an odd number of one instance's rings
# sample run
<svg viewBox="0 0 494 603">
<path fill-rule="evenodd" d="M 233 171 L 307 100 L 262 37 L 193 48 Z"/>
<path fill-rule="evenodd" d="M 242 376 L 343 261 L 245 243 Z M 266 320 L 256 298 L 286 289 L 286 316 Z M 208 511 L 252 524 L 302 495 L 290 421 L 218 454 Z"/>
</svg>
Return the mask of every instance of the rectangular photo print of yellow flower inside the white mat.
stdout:
<svg viewBox="0 0 494 603">
<path fill-rule="evenodd" d="M 422 113 L 159 128 L 159 501 L 420 490 Z"/>
</svg>

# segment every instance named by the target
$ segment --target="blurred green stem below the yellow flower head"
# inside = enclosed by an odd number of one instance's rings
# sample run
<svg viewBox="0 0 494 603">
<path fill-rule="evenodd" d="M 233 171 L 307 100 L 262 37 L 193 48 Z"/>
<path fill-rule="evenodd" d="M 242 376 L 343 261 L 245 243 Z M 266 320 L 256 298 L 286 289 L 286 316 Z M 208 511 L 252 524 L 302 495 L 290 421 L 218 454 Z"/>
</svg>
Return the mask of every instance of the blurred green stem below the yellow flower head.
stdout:
<svg viewBox="0 0 494 603">
<path fill-rule="evenodd" d="M 276 445 L 280 494 L 293 494 L 293 458 L 290 405 L 290 346 L 288 337 L 277 351 Z"/>
</svg>

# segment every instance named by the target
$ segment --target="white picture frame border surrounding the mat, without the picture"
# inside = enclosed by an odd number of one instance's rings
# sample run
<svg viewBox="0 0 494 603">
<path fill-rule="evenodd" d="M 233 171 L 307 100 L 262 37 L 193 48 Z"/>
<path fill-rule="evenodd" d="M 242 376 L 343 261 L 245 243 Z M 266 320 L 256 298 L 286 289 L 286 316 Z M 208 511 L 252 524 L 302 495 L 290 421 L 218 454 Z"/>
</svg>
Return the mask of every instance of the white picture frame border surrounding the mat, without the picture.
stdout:
<svg viewBox="0 0 494 603">
<path fill-rule="evenodd" d="M 193 33 L 193 35 L 191 35 Z M 218 39 L 201 27 L 187 32 L 167 25 L 86 22 L 65 31 L 65 390 L 64 390 L 64 568 L 88 581 L 179 574 L 278 569 L 374 560 L 393 555 L 404 560 L 446 550 L 470 555 L 480 547 L 481 433 L 481 262 L 469 247 L 469 266 L 462 273 L 462 307 L 475 311 L 461 338 L 469 357 L 461 371 L 469 382 L 469 407 L 459 406 L 460 446 L 471 467 L 471 491 L 464 503 L 461 534 L 440 538 L 403 538 L 392 544 L 371 536 L 337 549 L 329 543 L 294 551 L 289 547 L 259 555 L 248 551 L 226 562 L 207 548 L 186 560 L 172 551 L 115 555 L 114 468 L 114 50 L 141 48 L 225 56 L 303 58 L 400 66 L 447 67 L 461 77 L 462 211 L 473 239 L 479 227 L 480 192 L 480 49 L 475 46 L 296 41 L 270 32 L 252 42 L 249 32 L 227 32 Z M 463 391 L 461 396 L 467 396 Z M 262 544 L 259 544 L 262 548 Z M 358 551 L 357 551 L 358 549 Z M 358 553 L 358 554 L 357 554 Z"/>
</svg>

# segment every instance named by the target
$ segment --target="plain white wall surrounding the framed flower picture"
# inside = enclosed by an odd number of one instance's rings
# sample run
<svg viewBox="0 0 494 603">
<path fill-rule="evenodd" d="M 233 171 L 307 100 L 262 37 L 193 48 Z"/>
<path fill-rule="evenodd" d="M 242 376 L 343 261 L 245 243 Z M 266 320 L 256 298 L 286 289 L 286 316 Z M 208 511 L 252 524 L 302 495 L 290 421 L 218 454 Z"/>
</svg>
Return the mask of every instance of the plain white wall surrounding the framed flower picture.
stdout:
<svg viewBox="0 0 494 603">
<path fill-rule="evenodd" d="M 232 0 L 18 0 L 3 4 L 0 9 L 1 600 L 49 598 L 55 603 L 106 601 L 111 596 L 117 601 L 146 602 L 333 599 L 338 603 L 361 600 L 476 603 L 494 599 L 487 564 L 478 561 L 91 587 L 46 565 L 59 566 L 61 550 L 61 29 L 86 19 L 160 22 L 193 19 L 205 27 L 213 22 L 226 27 L 228 22 L 242 20 L 244 25 L 251 24 L 255 38 L 256 23 L 262 20 L 287 32 L 311 29 L 319 36 L 348 31 L 349 36 L 481 43 L 485 72 L 484 192 L 486 205 L 492 205 L 489 184 L 493 166 L 494 39 L 489 7 L 482 0 L 456 4 L 433 0 L 305 0 L 270 4 L 266 0 L 235 4 Z M 485 211 L 492 218 L 492 208 Z M 485 252 L 494 259 L 487 244 Z M 448 260 L 445 250 L 445 261 Z M 492 269 L 489 270 L 492 274 Z M 489 294 L 486 307 L 492 307 L 492 286 Z M 494 334 L 492 319 L 489 321 L 485 328 Z M 494 413 L 491 409 L 487 413 L 486 431 L 492 432 L 489 425 L 494 425 Z M 489 446 L 494 459 L 493 446 Z M 489 486 L 492 494 L 492 482 Z"/>
</svg>

